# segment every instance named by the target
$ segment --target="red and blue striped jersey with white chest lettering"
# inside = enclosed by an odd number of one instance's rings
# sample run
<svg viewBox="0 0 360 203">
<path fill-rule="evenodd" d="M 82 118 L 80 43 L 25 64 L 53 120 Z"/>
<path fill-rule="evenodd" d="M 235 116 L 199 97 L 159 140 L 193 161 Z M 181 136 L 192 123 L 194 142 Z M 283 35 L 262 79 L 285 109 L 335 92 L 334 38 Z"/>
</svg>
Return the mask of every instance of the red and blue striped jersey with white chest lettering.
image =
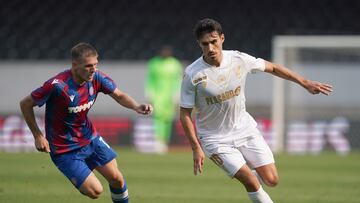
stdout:
<svg viewBox="0 0 360 203">
<path fill-rule="evenodd" d="M 97 94 L 111 94 L 116 84 L 97 70 L 92 81 L 77 84 L 71 70 L 47 80 L 31 93 L 35 103 L 46 104 L 45 132 L 53 154 L 62 154 L 88 145 L 98 136 L 87 114 Z"/>
</svg>

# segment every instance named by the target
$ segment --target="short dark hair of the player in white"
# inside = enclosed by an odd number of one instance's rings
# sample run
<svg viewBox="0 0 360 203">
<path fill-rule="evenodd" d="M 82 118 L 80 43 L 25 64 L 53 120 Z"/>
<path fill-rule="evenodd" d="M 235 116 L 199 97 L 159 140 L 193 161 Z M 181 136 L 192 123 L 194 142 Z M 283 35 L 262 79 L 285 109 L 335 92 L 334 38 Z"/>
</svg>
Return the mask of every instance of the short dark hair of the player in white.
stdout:
<svg viewBox="0 0 360 203">
<path fill-rule="evenodd" d="M 199 20 L 194 27 L 196 39 L 200 39 L 204 34 L 212 33 L 214 31 L 219 35 L 223 34 L 220 23 L 210 18 Z"/>
</svg>

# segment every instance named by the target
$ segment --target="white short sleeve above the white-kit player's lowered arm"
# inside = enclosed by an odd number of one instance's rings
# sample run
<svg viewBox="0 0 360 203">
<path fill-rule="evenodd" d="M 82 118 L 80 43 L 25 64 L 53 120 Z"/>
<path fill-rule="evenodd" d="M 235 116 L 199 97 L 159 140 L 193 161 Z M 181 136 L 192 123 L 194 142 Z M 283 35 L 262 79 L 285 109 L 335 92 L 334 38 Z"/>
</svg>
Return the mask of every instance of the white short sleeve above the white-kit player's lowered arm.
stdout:
<svg viewBox="0 0 360 203">
<path fill-rule="evenodd" d="M 184 74 L 181 83 L 180 106 L 184 108 L 193 108 L 195 106 L 195 86 L 188 73 Z"/>
</svg>

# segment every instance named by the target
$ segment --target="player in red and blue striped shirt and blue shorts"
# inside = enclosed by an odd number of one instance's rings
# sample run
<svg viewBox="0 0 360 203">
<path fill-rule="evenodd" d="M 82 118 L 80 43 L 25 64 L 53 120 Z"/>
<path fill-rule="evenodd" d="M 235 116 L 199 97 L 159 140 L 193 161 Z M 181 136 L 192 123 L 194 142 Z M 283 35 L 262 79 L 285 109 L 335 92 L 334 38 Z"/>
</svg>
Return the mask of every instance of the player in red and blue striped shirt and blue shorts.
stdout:
<svg viewBox="0 0 360 203">
<path fill-rule="evenodd" d="M 103 187 L 92 172 L 95 169 L 109 182 L 112 201 L 128 202 L 116 153 L 97 133 L 87 114 L 100 92 L 139 114 L 150 114 L 152 106 L 138 104 L 99 71 L 98 53 L 90 44 L 74 46 L 71 57 L 71 69 L 50 78 L 22 99 L 21 111 L 35 138 L 36 149 L 50 153 L 54 164 L 82 194 L 96 199 L 102 193 Z M 44 104 L 46 137 L 35 121 L 33 110 Z"/>
</svg>

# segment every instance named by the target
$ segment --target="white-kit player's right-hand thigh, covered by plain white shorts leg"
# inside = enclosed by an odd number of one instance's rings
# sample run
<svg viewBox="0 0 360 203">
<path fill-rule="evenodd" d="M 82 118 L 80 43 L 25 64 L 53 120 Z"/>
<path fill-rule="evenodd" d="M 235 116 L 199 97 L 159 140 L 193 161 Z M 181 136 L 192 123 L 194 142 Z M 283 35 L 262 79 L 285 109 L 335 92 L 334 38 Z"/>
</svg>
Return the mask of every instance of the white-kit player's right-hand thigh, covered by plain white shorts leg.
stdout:
<svg viewBox="0 0 360 203">
<path fill-rule="evenodd" d="M 254 137 L 238 147 L 250 168 L 274 164 L 274 156 L 262 136 Z"/>
</svg>

